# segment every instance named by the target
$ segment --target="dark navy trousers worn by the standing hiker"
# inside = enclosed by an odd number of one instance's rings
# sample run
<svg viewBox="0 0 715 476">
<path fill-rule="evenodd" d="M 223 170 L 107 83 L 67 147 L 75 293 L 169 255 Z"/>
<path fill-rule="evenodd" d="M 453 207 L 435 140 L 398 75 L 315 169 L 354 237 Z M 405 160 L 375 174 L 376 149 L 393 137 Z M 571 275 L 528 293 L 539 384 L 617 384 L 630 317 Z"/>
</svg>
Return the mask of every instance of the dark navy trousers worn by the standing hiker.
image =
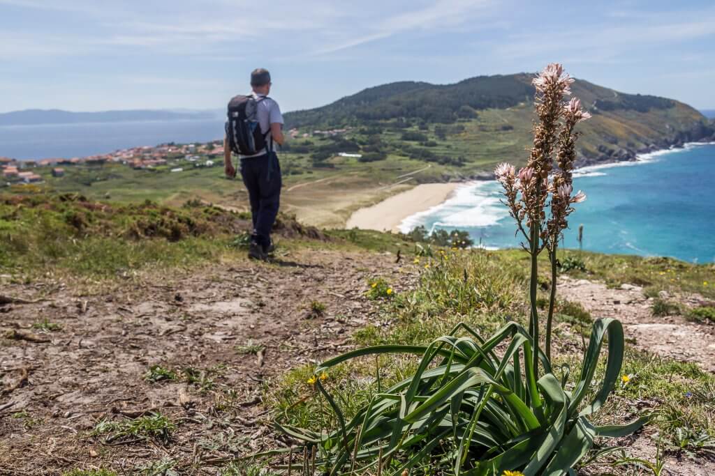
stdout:
<svg viewBox="0 0 715 476">
<path fill-rule="evenodd" d="M 280 206 L 280 163 L 275 152 L 241 159 L 243 183 L 248 189 L 253 220 L 252 239 L 264 247 L 270 245 L 270 232 Z"/>
</svg>

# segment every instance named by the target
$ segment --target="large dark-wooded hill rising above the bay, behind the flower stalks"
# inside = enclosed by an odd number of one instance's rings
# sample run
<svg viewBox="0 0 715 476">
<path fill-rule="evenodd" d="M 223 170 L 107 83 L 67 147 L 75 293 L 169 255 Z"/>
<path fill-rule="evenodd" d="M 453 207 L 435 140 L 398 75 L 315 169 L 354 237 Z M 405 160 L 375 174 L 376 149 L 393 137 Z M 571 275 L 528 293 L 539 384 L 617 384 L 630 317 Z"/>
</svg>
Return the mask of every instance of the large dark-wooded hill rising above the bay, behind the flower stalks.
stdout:
<svg viewBox="0 0 715 476">
<path fill-rule="evenodd" d="M 461 156 L 460 165 L 468 166 L 480 156 L 523 155 L 531 132 L 532 77 L 477 76 L 446 85 L 390 83 L 327 106 L 287 113 L 285 118 L 287 126 L 308 130 L 415 128 L 421 131 L 421 136 L 414 136 L 420 144 L 406 150 L 410 156 L 424 153 L 420 146 L 429 146 L 430 140 L 437 142 L 448 136 L 453 151 L 445 156 Z M 637 153 L 715 134 L 699 111 L 672 99 L 621 93 L 583 80 L 574 83 L 573 95 L 581 98 L 593 114 L 593 120 L 583 126 L 579 150 L 582 165 L 632 160 Z"/>
</svg>

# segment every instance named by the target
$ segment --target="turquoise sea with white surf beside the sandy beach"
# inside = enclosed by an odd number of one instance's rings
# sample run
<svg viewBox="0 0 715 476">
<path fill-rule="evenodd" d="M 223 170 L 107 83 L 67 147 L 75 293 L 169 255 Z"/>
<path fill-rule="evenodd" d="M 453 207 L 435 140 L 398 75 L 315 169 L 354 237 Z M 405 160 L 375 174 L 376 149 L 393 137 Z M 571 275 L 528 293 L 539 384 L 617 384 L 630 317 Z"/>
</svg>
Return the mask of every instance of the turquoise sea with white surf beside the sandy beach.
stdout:
<svg viewBox="0 0 715 476">
<path fill-rule="evenodd" d="M 575 175 L 574 189 L 588 198 L 574 206 L 564 233 L 567 248 L 578 248 L 583 224 L 584 250 L 715 262 L 715 144 L 689 144 Z M 473 183 L 400 228 L 460 228 L 488 248 L 518 247 L 513 218 L 501 198 L 495 181 Z"/>
</svg>

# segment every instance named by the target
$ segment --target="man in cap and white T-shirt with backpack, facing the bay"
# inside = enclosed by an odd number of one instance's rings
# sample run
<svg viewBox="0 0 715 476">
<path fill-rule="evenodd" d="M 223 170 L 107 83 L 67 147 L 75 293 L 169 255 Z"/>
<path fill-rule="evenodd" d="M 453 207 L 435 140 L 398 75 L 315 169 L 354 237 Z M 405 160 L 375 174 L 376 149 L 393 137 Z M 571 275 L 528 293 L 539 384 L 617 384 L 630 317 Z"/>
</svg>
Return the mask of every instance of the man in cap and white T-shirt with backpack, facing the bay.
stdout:
<svg viewBox="0 0 715 476">
<path fill-rule="evenodd" d="M 248 190 L 253 231 L 248 256 L 266 260 L 273 252 L 271 228 L 280 204 L 280 163 L 273 143 L 283 145 L 283 116 L 278 103 L 268 97 L 270 73 L 256 69 L 251 73 L 252 93 L 235 96 L 228 104 L 224 139 L 226 176 L 234 178 L 236 169 L 231 153 L 239 158 L 239 170 Z"/>
</svg>

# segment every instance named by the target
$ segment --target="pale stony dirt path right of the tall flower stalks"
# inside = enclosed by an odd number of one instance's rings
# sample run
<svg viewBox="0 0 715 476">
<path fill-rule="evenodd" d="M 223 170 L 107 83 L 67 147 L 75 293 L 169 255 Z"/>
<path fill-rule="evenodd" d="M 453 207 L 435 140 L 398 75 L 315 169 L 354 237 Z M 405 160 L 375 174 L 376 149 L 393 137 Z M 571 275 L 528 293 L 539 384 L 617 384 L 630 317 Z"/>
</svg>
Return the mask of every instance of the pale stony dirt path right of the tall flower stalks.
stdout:
<svg viewBox="0 0 715 476">
<path fill-rule="evenodd" d="M 705 370 L 715 372 L 715 325 L 692 323 L 679 315 L 653 315 L 653 298 L 646 298 L 643 289 L 635 285 L 624 284 L 611 289 L 603 283 L 568 276 L 560 279 L 558 293 L 563 298 L 581 303 L 595 318 L 621 320 L 626 338 L 635 340 L 636 348 L 696 362 Z M 696 301 L 697 298 L 678 296 L 676 300 Z"/>
</svg>

